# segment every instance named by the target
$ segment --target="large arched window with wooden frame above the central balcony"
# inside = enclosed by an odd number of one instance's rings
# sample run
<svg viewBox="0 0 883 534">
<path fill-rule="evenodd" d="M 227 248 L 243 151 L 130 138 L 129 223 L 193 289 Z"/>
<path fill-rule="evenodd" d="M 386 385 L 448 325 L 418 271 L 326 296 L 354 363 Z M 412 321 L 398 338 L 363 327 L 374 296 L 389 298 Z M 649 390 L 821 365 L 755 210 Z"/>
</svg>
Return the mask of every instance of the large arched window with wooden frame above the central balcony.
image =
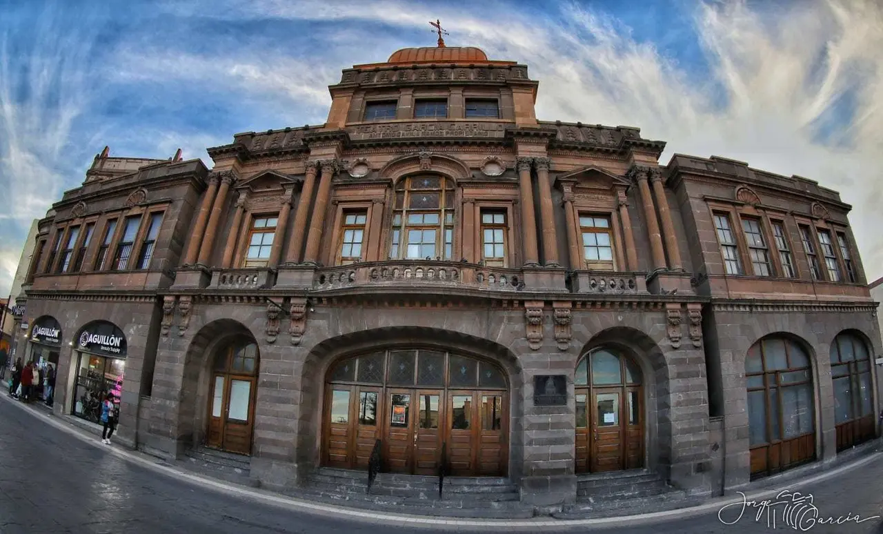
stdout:
<svg viewBox="0 0 883 534">
<path fill-rule="evenodd" d="M 454 183 L 444 177 L 406 177 L 396 184 L 389 259 L 451 259 Z"/>
</svg>

